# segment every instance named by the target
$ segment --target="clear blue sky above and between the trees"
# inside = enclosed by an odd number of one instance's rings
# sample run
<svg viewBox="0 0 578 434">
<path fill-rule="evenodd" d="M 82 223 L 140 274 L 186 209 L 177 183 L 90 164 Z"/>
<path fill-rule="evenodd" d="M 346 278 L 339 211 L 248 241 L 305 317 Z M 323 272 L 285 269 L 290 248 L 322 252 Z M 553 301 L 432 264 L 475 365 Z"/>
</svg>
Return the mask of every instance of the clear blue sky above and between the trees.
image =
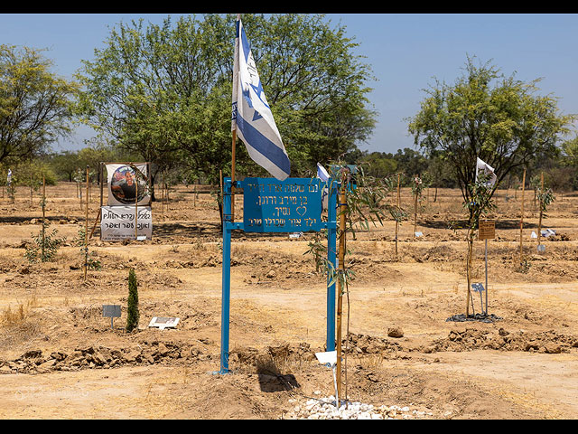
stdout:
<svg viewBox="0 0 578 434">
<path fill-rule="evenodd" d="M 70 78 L 120 21 L 142 17 L 159 24 L 167 15 L 0 14 L 0 43 L 47 48 L 54 71 Z M 419 110 L 433 78 L 452 83 L 461 75 L 466 55 L 491 61 L 506 75 L 516 72 L 519 80 L 541 78 L 541 94 L 558 97 L 563 113 L 578 113 L 578 14 L 327 14 L 327 19 L 346 26 L 376 77 L 368 85 L 378 124 L 361 149 L 395 153 L 413 147 L 406 118 Z M 247 38 L 250 43 L 251 35 Z M 79 149 L 91 136 L 81 127 L 55 150 Z"/>
</svg>

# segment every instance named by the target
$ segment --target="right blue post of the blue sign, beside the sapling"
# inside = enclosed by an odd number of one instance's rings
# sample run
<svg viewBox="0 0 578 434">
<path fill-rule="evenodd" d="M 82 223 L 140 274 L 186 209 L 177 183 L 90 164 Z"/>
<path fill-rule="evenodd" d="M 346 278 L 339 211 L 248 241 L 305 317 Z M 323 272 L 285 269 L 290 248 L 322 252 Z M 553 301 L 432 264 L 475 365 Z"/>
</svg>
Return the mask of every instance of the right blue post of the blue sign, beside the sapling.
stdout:
<svg viewBox="0 0 578 434">
<path fill-rule="evenodd" d="M 338 183 L 330 178 L 329 198 L 327 201 L 327 260 L 337 269 L 337 192 Z M 334 222 L 334 224 L 331 224 Z M 327 276 L 327 351 L 335 351 L 335 282 L 330 285 L 331 278 Z"/>
</svg>

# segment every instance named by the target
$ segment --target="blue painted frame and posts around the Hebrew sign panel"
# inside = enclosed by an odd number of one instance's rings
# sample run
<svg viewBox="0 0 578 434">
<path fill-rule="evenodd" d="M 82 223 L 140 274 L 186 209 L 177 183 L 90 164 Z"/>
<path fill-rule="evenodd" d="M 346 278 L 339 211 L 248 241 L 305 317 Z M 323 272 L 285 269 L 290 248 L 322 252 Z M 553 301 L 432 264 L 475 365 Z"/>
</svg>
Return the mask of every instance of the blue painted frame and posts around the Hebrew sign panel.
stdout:
<svg viewBox="0 0 578 434">
<path fill-rule="evenodd" d="M 256 181 L 256 180 L 263 180 Z M 298 181 L 296 181 L 298 180 Z M 275 178 L 246 178 L 246 181 L 235 182 L 235 187 L 245 188 L 250 183 L 259 184 L 297 184 L 297 185 L 312 185 L 318 184 L 318 180 L 310 178 L 287 178 L 284 182 L 275 180 Z M 339 183 L 330 179 L 327 183 L 329 186 L 329 200 L 328 200 L 328 218 L 327 222 L 321 222 L 321 210 L 322 210 L 322 199 L 321 192 L 325 186 L 325 183 L 320 182 L 319 190 L 316 190 L 312 199 L 317 201 L 319 199 L 319 224 L 310 227 L 308 231 L 321 231 L 322 229 L 327 229 L 327 259 L 332 264 L 333 267 L 337 267 L 337 195 L 339 192 Z M 228 370 L 228 343 L 229 343 L 229 318 L 230 318 L 230 284 L 231 284 L 231 232 L 234 230 L 245 231 L 245 218 L 244 222 L 232 222 L 231 221 L 231 193 L 232 193 L 232 182 L 230 177 L 223 179 L 223 262 L 222 262 L 222 282 L 221 282 L 221 329 L 220 329 L 220 371 L 218 373 L 229 373 Z M 317 196 L 319 193 L 319 196 Z M 253 197 L 253 196 L 249 196 Z M 309 203 L 308 199 L 308 203 Z M 274 203 L 275 204 L 275 203 Z M 277 203 L 278 204 L 278 203 Z M 294 206 L 301 206 L 301 203 L 294 203 Z M 317 210 L 317 206 L 313 205 L 312 210 Z M 270 211 L 270 210 L 269 210 Z M 293 212 L 294 207 L 289 210 Z M 315 211 L 316 212 L 316 211 Z M 312 213 L 308 214 L 311 218 Z M 298 231 L 294 230 L 294 225 L 290 227 L 280 228 L 279 226 L 273 226 L 275 232 L 281 231 Z M 253 228 L 255 229 L 255 228 Z M 267 231 L 267 228 L 263 228 Z M 269 226 L 268 229 L 271 229 Z M 283 229 L 283 230 L 281 230 Z M 331 283 L 331 278 L 327 277 L 327 351 L 335 350 L 335 316 L 336 316 L 336 300 L 335 300 L 335 282 Z"/>
</svg>

